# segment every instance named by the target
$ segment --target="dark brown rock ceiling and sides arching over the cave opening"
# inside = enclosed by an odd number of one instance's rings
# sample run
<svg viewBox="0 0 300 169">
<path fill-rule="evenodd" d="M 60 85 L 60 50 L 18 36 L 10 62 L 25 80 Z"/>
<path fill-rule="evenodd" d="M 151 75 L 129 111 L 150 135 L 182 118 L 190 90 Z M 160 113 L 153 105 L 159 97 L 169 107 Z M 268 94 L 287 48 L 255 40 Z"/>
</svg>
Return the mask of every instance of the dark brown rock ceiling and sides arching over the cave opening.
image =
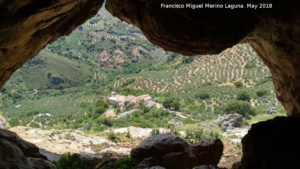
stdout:
<svg viewBox="0 0 300 169">
<path fill-rule="evenodd" d="M 97 14 L 104 0 L 0 0 L 0 88 L 47 44 Z M 211 1 L 202 1 L 208 4 Z M 140 28 L 153 44 L 183 55 L 218 54 L 248 42 L 272 72 L 287 115 L 300 112 L 300 2 L 272 8 L 161 8 L 179 0 L 107 0 L 106 9 Z M 250 1 L 248 3 L 251 3 Z"/>
</svg>

